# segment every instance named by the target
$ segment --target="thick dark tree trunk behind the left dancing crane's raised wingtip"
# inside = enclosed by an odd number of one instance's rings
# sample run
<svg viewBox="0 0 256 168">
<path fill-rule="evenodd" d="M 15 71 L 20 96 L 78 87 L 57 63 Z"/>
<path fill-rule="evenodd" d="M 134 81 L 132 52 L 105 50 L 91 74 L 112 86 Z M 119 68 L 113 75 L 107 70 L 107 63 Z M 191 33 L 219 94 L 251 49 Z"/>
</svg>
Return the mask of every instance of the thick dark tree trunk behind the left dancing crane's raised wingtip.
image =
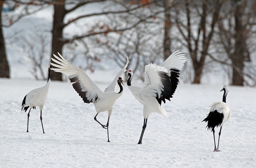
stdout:
<svg viewBox="0 0 256 168">
<path fill-rule="evenodd" d="M 64 28 L 64 17 L 66 15 L 65 9 L 65 0 L 60 0 L 59 3 L 54 4 L 54 15 L 53 15 L 53 26 L 52 26 L 52 55 L 57 54 L 59 52 L 61 54 L 62 47 L 64 46 L 65 42 L 63 40 L 63 28 Z M 52 62 L 52 60 L 51 60 Z M 52 72 L 52 80 L 62 81 L 61 73 Z"/>
</svg>

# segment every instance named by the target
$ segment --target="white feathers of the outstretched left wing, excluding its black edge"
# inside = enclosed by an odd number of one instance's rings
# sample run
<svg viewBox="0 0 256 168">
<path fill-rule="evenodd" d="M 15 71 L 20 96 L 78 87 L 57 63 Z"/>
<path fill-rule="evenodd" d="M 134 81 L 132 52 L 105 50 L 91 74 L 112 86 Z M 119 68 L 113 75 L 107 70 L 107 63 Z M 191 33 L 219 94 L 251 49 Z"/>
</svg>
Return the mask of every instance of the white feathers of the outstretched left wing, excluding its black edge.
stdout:
<svg viewBox="0 0 256 168">
<path fill-rule="evenodd" d="M 92 81 L 92 79 L 86 74 L 82 69 L 79 67 L 75 67 L 71 63 L 69 63 L 67 60 L 65 60 L 60 53 L 58 53 L 60 58 L 53 54 L 53 56 L 57 59 L 53 59 L 55 63 L 51 63 L 54 67 L 58 68 L 51 68 L 55 72 L 60 72 L 68 76 L 69 79 L 72 78 L 78 78 L 78 81 L 80 83 L 80 86 L 82 88 L 82 92 L 87 92 L 86 97 L 90 100 L 95 100 L 96 97 L 99 97 L 103 92 L 98 88 L 98 86 Z M 59 60 L 59 61 L 58 61 Z"/>
</svg>

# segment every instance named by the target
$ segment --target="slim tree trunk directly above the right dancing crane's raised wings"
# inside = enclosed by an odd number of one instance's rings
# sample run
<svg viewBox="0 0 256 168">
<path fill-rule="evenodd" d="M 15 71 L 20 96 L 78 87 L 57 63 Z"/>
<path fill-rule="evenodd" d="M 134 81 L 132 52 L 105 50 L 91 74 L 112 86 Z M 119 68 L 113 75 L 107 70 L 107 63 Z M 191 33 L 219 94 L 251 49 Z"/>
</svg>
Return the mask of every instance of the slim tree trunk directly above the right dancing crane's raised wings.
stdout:
<svg viewBox="0 0 256 168">
<path fill-rule="evenodd" d="M 171 13 L 170 0 L 164 0 L 164 60 L 171 55 Z"/>
</svg>

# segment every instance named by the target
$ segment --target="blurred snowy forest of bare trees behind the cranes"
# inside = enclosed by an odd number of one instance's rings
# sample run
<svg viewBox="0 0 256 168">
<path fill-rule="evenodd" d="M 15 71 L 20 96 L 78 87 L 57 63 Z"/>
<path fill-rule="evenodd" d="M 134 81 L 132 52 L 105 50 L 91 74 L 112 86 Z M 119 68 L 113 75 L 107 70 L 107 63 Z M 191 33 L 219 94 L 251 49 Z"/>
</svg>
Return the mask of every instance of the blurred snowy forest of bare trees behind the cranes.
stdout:
<svg viewBox="0 0 256 168">
<path fill-rule="evenodd" d="M 36 17 L 29 34 L 10 30 L 48 8 L 51 22 Z M 256 86 L 255 0 L 0 0 L 0 13 L 0 77 L 10 77 L 13 57 L 5 43 L 19 43 L 37 80 L 47 78 L 43 65 L 57 52 L 91 72 L 103 60 L 122 67 L 127 55 L 127 69 L 144 79 L 145 65 L 180 50 L 188 58 L 185 83 L 213 74 L 227 84 Z M 61 73 L 52 79 L 61 81 Z"/>
</svg>

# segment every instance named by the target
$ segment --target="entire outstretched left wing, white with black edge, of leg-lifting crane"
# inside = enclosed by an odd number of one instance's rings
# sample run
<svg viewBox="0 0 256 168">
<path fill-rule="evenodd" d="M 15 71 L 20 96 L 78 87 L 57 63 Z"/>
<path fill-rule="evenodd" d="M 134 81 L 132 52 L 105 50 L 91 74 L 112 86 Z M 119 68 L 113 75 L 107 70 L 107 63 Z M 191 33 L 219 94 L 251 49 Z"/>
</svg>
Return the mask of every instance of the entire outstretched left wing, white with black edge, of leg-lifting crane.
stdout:
<svg viewBox="0 0 256 168">
<path fill-rule="evenodd" d="M 53 56 L 57 59 L 53 59 L 57 64 L 51 63 L 54 67 L 51 68 L 55 72 L 60 72 L 68 76 L 70 82 L 73 83 L 73 88 L 76 92 L 83 98 L 85 103 L 90 103 L 96 101 L 102 95 L 102 91 L 98 86 L 92 81 L 92 79 L 79 67 L 75 67 L 67 60 L 65 60 L 60 53 L 58 53 L 60 57 L 53 54 Z M 58 61 L 59 60 L 59 61 Z"/>
</svg>

